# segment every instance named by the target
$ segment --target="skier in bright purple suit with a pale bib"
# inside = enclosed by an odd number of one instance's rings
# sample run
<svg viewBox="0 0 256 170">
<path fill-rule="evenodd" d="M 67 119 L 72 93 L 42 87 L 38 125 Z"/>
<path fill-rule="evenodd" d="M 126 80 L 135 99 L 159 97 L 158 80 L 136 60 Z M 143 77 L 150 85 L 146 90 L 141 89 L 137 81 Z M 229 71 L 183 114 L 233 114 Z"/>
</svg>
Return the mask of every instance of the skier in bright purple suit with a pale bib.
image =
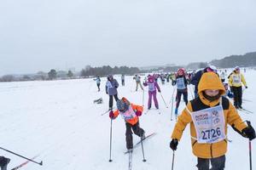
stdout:
<svg viewBox="0 0 256 170">
<path fill-rule="evenodd" d="M 158 101 L 156 98 L 156 89 L 160 93 L 160 87 L 157 82 L 154 81 L 154 76 L 148 76 L 148 81 L 143 83 L 144 86 L 148 86 L 148 110 L 151 109 L 152 96 L 154 99 L 154 106 L 159 109 Z"/>
</svg>

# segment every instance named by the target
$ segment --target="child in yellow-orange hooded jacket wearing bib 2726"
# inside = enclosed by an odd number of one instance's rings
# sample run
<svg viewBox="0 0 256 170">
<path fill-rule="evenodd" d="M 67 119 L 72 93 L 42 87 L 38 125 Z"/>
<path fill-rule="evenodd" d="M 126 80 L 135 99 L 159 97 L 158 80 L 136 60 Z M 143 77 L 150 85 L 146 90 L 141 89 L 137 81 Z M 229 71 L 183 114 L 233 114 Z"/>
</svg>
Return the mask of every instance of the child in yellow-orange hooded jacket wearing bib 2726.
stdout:
<svg viewBox="0 0 256 170">
<path fill-rule="evenodd" d="M 204 73 L 198 85 L 199 97 L 189 101 L 172 132 L 170 147 L 177 150 L 183 130 L 190 123 L 191 145 L 199 170 L 224 170 L 227 151 L 227 124 L 250 140 L 255 139 L 252 126 L 242 122 L 229 99 L 223 97 L 224 86 L 218 75 Z"/>
</svg>

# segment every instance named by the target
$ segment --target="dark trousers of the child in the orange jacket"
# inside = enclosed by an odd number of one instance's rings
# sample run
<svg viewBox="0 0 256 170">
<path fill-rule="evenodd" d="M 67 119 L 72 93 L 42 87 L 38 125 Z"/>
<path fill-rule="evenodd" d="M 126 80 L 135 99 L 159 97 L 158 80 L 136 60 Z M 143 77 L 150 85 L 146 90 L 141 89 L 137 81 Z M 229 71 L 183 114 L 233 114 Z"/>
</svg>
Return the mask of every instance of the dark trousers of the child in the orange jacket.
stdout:
<svg viewBox="0 0 256 170">
<path fill-rule="evenodd" d="M 130 150 L 133 148 L 131 129 L 132 129 L 133 133 L 135 133 L 139 137 L 142 137 L 145 132 L 144 132 L 143 128 L 141 128 L 139 126 L 139 122 L 137 122 L 135 125 L 131 125 L 129 122 L 126 122 L 125 127 L 126 127 L 126 133 L 125 133 L 126 148 L 127 148 L 127 150 Z"/>
</svg>

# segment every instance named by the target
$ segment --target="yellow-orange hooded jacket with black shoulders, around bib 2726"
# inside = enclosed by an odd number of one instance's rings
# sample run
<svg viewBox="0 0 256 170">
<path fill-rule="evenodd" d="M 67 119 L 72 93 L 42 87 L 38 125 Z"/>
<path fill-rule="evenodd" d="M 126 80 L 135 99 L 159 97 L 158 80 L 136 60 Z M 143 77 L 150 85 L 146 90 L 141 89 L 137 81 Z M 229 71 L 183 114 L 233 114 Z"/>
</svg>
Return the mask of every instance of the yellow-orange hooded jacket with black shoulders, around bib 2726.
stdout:
<svg viewBox="0 0 256 170">
<path fill-rule="evenodd" d="M 217 74 L 213 72 L 204 73 L 201 77 L 201 81 L 198 86 L 199 97 L 189 101 L 187 109 L 193 114 L 194 111 L 201 111 L 209 107 L 219 105 L 220 99 L 209 101 L 203 96 L 203 91 L 206 89 L 219 89 L 220 94 L 224 94 L 224 86 L 220 82 Z M 238 115 L 235 107 L 230 103 L 229 99 L 221 97 L 222 105 L 224 109 L 224 120 L 225 120 L 225 134 L 227 134 L 227 124 L 236 127 L 238 131 L 247 125 L 241 121 L 241 117 Z M 224 156 L 227 151 L 226 139 L 213 144 L 199 144 L 197 143 L 195 125 L 192 121 L 192 117 L 186 109 L 183 110 L 182 114 L 178 116 L 177 123 L 172 132 L 172 139 L 180 140 L 183 135 L 183 130 L 190 123 L 190 134 L 191 134 L 191 145 L 195 156 L 201 158 L 215 158 Z"/>
</svg>

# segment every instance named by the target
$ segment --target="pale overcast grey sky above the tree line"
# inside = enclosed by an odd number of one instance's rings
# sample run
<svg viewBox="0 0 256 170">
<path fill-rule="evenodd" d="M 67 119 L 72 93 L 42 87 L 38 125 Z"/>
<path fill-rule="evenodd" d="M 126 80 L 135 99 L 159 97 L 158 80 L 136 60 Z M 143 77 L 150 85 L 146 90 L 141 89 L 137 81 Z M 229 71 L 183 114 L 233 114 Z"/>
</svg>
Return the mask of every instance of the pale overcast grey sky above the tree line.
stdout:
<svg viewBox="0 0 256 170">
<path fill-rule="evenodd" d="M 0 75 L 256 51 L 255 0 L 2 0 Z"/>
</svg>

